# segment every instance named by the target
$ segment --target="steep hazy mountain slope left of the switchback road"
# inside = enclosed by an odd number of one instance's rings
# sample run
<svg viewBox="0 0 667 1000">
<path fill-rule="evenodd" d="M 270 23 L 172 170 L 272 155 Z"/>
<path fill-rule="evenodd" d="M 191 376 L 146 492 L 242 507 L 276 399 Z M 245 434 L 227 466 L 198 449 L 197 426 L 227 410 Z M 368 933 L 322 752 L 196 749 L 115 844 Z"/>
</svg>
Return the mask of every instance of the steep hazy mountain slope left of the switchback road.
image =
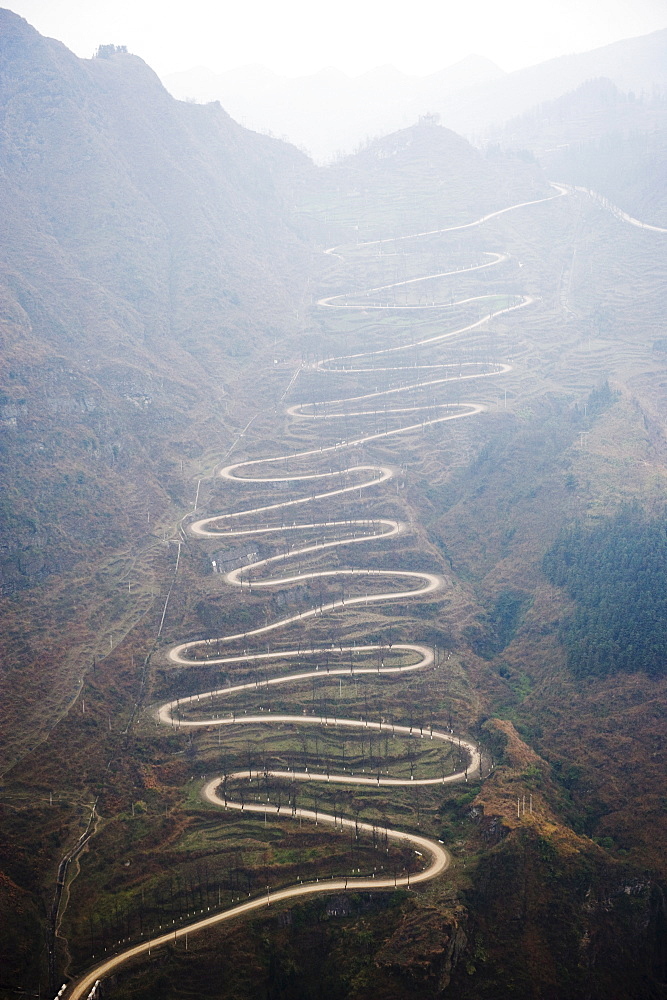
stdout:
<svg viewBox="0 0 667 1000">
<path fill-rule="evenodd" d="M 0 657 L 23 743 L 159 599 L 155 533 L 213 416 L 231 440 L 225 384 L 293 321 L 310 260 L 286 208 L 309 161 L 107 55 L 0 12 Z M 134 597 L 107 579 L 128 549 Z"/>
</svg>

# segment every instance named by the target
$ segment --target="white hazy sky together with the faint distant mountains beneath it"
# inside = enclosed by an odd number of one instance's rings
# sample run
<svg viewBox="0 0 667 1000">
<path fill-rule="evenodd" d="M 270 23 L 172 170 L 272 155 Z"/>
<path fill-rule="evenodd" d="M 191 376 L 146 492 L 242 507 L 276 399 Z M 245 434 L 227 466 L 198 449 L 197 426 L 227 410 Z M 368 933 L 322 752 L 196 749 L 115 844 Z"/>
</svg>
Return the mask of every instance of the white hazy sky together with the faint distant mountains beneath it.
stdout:
<svg viewBox="0 0 667 1000">
<path fill-rule="evenodd" d="M 125 45 L 174 97 L 219 100 L 319 162 L 427 113 L 483 141 L 596 77 L 626 92 L 667 89 L 664 40 L 646 52 L 590 52 L 664 28 L 666 0 L 15 0 L 13 9 L 84 58 Z"/>
</svg>

